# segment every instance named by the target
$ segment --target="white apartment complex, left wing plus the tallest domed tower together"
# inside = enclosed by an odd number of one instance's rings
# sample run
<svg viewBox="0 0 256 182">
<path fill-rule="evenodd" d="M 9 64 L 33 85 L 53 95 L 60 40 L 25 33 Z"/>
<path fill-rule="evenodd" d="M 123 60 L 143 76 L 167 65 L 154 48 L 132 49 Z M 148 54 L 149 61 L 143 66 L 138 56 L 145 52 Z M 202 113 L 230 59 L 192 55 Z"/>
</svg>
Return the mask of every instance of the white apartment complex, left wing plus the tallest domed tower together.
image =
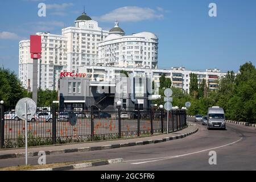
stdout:
<svg viewBox="0 0 256 182">
<path fill-rule="evenodd" d="M 63 28 L 62 35 L 49 32 L 42 36 L 42 59 L 38 63 L 38 88 L 57 90 L 61 71 L 77 72 L 82 65 L 97 61 L 97 43 L 108 36 L 108 31 L 98 27 L 98 22 L 82 13 L 75 27 Z M 32 91 L 32 59 L 30 40 L 19 42 L 19 79 L 22 86 Z"/>
</svg>

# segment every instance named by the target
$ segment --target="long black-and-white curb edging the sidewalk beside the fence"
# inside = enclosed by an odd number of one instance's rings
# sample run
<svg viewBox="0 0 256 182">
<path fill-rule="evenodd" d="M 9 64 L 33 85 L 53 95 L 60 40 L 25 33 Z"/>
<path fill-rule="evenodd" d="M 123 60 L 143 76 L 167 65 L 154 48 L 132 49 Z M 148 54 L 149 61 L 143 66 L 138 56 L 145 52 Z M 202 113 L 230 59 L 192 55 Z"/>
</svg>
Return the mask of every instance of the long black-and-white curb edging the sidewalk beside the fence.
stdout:
<svg viewBox="0 0 256 182">
<path fill-rule="evenodd" d="M 86 152 L 86 151 L 96 151 L 96 150 L 108 150 L 112 148 L 121 148 L 121 147 L 131 147 L 131 146 L 141 146 L 145 144 L 153 144 L 153 143 L 161 143 L 166 142 L 169 140 L 174 139 L 180 139 L 184 137 L 188 137 L 189 135 L 192 135 L 198 131 L 198 127 L 196 130 L 193 130 L 186 134 L 180 134 L 175 137 L 166 137 L 166 138 L 160 138 L 155 140 L 142 140 L 139 142 L 129 142 L 129 143 L 121 143 L 121 144 L 110 144 L 107 146 L 96 146 L 96 147 L 82 147 L 82 148 L 69 148 L 69 149 L 63 149 L 63 150 L 55 150 L 55 151 L 45 151 L 46 155 L 55 155 L 55 154 L 65 154 L 65 153 L 71 153 L 71 152 Z M 28 152 L 28 156 L 38 156 L 37 152 Z M 6 154 L 6 155 L 0 155 L 0 159 L 11 159 L 11 158 L 24 158 L 25 153 L 15 153 L 15 154 Z"/>
</svg>

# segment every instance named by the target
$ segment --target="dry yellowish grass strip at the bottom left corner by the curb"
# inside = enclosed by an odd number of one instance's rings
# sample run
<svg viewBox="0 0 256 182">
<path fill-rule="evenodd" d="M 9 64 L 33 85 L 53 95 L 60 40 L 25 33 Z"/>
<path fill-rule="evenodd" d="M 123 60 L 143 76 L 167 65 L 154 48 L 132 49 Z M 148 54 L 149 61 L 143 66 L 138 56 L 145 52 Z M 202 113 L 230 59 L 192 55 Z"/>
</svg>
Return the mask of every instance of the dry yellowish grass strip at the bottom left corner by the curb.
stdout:
<svg viewBox="0 0 256 182">
<path fill-rule="evenodd" d="M 100 161 L 104 161 L 104 160 L 97 159 L 97 160 L 82 160 L 77 162 L 55 163 L 55 164 L 45 164 L 45 165 L 13 166 L 13 167 L 0 168 L 0 171 L 29 171 L 29 170 L 35 170 L 35 169 L 64 167 L 72 164 L 91 163 L 91 162 L 100 162 Z"/>
</svg>

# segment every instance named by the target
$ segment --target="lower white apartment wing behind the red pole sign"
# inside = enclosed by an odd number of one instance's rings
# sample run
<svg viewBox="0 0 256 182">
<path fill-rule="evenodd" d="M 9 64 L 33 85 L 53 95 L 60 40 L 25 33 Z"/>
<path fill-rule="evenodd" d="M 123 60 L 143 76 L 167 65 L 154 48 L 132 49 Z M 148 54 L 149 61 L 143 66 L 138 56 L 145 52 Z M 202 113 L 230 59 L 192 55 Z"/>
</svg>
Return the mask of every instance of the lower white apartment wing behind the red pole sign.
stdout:
<svg viewBox="0 0 256 182">
<path fill-rule="evenodd" d="M 37 33 L 42 37 L 42 58 L 38 61 L 38 88 L 57 90 L 60 71 L 67 71 L 67 38 L 62 35 Z M 30 40 L 19 42 L 19 80 L 32 91 L 33 59 Z"/>
</svg>

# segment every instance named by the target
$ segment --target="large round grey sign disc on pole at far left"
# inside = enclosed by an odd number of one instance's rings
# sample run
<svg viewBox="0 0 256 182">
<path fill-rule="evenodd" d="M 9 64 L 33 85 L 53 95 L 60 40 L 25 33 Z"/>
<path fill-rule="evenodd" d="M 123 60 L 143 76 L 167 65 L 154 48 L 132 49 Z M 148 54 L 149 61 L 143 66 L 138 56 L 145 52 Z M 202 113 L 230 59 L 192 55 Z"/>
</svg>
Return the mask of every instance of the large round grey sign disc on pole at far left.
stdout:
<svg viewBox="0 0 256 182">
<path fill-rule="evenodd" d="M 19 100 L 15 106 L 15 112 L 20 119 L 26 120 L 25 103 L 27 103 L 27 119 L 30 120 L 36 113 L 36 103 L 31 98 L 22 98 Z"/>
</svg>

